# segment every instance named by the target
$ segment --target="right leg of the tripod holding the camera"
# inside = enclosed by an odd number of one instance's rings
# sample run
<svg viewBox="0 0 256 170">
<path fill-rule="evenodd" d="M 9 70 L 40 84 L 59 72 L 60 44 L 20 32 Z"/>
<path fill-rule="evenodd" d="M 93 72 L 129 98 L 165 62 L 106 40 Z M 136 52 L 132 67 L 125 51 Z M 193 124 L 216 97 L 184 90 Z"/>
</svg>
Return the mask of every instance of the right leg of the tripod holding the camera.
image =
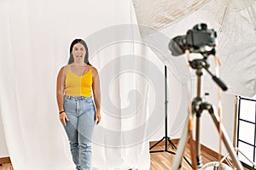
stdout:
<svg viewBox="0 0 256 170">
<path fill-rule="evenodd" d="M 219 130 L 219 127 L 218 127 L 219 117 L 218 117 L 218 115 L 216 115 L 215 112 L 213 111 L 213 113 L 211 113 L 211 116 L 212 116 L 212 120 L 213 120 L 215 126 Z M 230 153 L 230 157 L 232 158 L 233 163 L 235 164 L 237 169 L 243 169 L 243 167 L 241 166 L 241 162 L 238 160 L 238 158 L 236 156 L 236 152 L 235 152 L 235 150 L 232 146 L 232 143 L 229 139 L 228 133 L 224 129 L 223 123 L 220 124 L 220 127 L 221 127 L 221 131 L 222 131 L 223 142 L 225 144 L 226 149 Z"/>
</svg>

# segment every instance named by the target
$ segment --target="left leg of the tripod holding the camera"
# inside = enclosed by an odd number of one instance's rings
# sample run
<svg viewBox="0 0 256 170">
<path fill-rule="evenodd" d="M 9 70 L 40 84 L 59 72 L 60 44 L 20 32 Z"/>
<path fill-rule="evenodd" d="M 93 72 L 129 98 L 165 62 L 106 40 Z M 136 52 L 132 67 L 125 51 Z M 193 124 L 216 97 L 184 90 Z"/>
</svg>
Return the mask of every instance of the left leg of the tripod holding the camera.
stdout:
<svg viewBox="0 0 256 170">
<path fill-rule="evenodd" d="M 174 157 L 174 160 L 172 162 L 172 170 L 179 169 L 181 162 L 183 160 L 183 153 L 189 138 L 188 126 L 189 126 L 189 119 L 184 124 L 183 133 L 182 133 L 181 139 L 178 142 L 176 156 Z"/>
</svg>

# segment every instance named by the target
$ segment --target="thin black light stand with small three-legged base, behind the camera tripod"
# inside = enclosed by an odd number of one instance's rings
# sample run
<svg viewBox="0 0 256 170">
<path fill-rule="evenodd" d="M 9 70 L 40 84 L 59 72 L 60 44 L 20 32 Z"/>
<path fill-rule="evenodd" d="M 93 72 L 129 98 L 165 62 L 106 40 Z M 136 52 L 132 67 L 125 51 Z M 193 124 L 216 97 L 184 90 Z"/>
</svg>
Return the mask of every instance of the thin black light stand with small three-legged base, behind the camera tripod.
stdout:
<svg viewBox="0 0 256 170">
<path fill-rule="evenodd" d="M 165 94 L 166 94 L 166 100 L 165 100 L 165 114 L 166 114 L 166 122 L 165 122 L 165 136 L 160 139 L 157 143 L 155 143 L 154 145 L 152 145 L 149 148 L 149 153 L 156 153 L 156 152 L 168 152 L 170 154 L 175 155 L 175 152 L 168 150 L 168 142 L 172 145 L 172 148 L 174 148 L 175 150 L 177 150 L 177 147 L 175 146 L 175 144 L 172 143 L 172 140 L 170 137 L 168 137 L 167 135 L 167 122 L 168 122 L 168 118 L 167 118 L 167 108 L 168 108 L 168 100 L 167 100 L 167 67 L 165 65 Z M 165 150 L 152 150 L 157 144 L 160 144 L 161 141 L 165 140 Z M 189 163 L 189 165 L 191 166 L 190 162 L 187 160 L 186 157 L 183 157 L 185 159 L 185 161 L 187 161 Z"/>
</svg>

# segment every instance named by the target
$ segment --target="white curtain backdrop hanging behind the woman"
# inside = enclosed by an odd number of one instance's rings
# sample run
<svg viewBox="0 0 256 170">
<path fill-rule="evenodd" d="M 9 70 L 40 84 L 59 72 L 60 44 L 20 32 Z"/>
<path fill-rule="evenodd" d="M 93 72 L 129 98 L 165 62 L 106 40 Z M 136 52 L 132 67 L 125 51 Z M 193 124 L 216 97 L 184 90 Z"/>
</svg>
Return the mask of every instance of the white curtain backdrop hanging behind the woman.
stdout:
<svg viewBox="0 0 256 170">
<path fill-rule="evenodd" d="M 149 169 L 154 126 L 148 125 L 155 116 L 148 95 L 155 80 L 147 76 L 148 49 L 135 43 L 140 36 L 131 25 L 137 23 L 132 2 L 2 0 L 0 20 L 0 113 L 15 170 L 74 169 L 55 79 L 75 38 L 88 43 L 102 83 L 93 169 Z"/>
</svg>

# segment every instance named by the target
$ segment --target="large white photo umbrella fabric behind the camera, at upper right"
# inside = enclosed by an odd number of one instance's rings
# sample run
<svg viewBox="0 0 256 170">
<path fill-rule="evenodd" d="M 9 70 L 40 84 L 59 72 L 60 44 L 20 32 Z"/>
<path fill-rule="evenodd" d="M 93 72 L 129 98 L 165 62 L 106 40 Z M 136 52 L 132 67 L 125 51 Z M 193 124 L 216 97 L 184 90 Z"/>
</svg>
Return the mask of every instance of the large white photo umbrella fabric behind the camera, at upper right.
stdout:
<svg viewBox="0 0 256 170">
<path fill-rule="evenodd" d="M 223 61 L 220 77 L 228 93 L 256 94 L 256 2 L 253 0 L 133 0 L 143 37 L 155 31 L 185 35 L 199 23 L 218 32 L 217 54 Z M 166 44 L 167 45 L 167 44 Z M 183 69 L 180 67 L 180 69 Z"/>
</svg>

